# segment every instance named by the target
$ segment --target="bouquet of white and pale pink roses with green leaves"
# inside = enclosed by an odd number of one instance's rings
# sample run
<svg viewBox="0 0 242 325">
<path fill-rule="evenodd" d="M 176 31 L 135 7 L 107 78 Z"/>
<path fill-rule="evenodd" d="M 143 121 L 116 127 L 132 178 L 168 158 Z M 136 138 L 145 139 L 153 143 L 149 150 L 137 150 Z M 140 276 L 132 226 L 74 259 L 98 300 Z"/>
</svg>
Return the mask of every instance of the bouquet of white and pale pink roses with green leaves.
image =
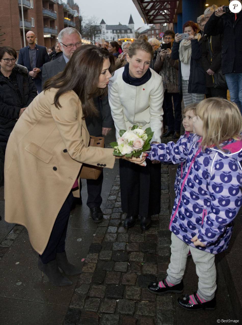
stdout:
<svg viewBox="0 0 242 325">
<path fill-rule="evenodd" d="M 150 142 L 154 132 L 148 127 L 146 130 L 142 130 L 141 126 L 133 125 L 129 130 L 120 130 L 120 138 L 117 142 L 111 142 L 110 145 L 114 148 L 115 156 L 126 157 L 139 157 L 142 152 L 151 148 Z"/>
</svg>

